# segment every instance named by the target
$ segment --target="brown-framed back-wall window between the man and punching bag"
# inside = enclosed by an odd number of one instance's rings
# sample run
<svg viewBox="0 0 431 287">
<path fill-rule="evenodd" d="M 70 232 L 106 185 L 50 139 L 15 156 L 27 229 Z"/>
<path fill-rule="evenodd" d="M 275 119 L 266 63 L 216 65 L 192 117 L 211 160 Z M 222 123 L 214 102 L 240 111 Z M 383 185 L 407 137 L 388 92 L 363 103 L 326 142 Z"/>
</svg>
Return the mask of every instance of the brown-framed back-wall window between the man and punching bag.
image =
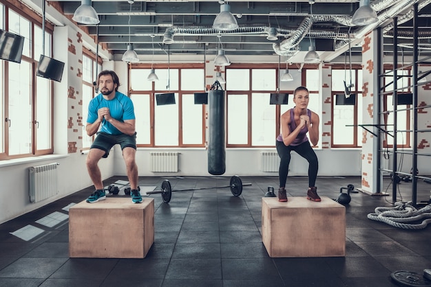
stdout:
<svg viewBox="0 0 431 287">
<path fill-rule="evenodd" d="M 130 69 L 130 97 L 136 115 L 138 146 L 204 147 L 205 106 L 194 103 L 204 91 L 203 65 L 156 66 L 158 81 L 147 80 L 150 68 Z M 156 95 L 174 93 L 175 104 L 157 104 Z"/>
</svg>

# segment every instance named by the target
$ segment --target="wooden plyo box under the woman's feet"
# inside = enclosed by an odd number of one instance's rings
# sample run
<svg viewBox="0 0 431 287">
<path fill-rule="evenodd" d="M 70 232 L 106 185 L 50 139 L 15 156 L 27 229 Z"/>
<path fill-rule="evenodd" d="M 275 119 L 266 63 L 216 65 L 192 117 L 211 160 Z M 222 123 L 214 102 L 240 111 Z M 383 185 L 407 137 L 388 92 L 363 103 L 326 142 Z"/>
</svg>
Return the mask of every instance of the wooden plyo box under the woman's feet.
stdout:
<svg viewBox="0 0 431 287">
<path fill-rule="evenodd" d="M 346 255 L 346 207 L 322 196 L 262 198 L 262 241 L 270 257 Z"/>
</svg>

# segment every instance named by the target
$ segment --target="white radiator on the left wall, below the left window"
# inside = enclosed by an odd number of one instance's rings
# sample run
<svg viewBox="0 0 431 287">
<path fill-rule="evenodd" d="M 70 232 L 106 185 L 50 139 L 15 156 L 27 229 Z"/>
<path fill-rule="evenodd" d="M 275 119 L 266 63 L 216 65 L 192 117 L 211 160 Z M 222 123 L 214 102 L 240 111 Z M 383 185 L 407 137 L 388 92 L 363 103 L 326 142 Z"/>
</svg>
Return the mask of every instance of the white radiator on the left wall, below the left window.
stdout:
<svg viewBox="0 0 431 287">
<path fill-rule="evenodd" d="M 37 203 L 59 193 L 57 165 L 59 163 L 49 163 L 29 168 L 30 203 Z"/>
</svg>

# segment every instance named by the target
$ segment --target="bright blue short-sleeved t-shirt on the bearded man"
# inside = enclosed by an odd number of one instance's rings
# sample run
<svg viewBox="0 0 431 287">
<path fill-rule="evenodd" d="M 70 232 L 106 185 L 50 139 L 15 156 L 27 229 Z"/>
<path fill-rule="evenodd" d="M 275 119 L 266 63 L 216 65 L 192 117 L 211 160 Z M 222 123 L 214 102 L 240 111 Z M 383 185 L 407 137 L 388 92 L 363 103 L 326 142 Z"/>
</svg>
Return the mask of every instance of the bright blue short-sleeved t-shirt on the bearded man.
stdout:
<svg viewBox="0 0 431 287">
<path fill-rule="evenodd" d="M 132 100 L 127 95 L 116 92 L 112 100 L 105 100 L 100 93 L 94 97 L 90 104 L 88 104 L 88 117 L 87 123 L 93 124 L 97 119 L 97 111 L 99 108 L 109 108 L 111 117 L 117 121 L 124 122 L 127 119 L 135 119 L 135 112 Z M 107 120 L 102 120 L 101 133 L 108 133 L 109 135 L 120 135 L 121 132 Z"/>
</svg>

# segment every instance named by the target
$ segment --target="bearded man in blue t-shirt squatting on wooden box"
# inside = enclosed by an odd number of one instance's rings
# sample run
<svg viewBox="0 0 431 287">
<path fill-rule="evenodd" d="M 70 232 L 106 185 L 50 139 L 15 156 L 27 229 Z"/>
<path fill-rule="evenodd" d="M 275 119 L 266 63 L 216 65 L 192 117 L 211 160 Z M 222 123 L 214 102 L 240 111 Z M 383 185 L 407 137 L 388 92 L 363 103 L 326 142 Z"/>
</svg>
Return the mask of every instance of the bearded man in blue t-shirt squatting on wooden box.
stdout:
<svg viewBox="0 0 431 287">
<path fill-rule="evenodd" d="M 132 100 L 118 92 L 120 81 L 114 71 L 98 74 L 98 89 L 101 91 L 88 105 L 85 131 L 90 137 L 97 134 L 87 155 L 87 170 L 96 190 L 87 198 L 87 203 L 96 203 L 106 198 L 103 190 L 98 161 L 107 157 L 109 150 L 119 144 L 123 150 L 127 177 L 134 203 L 142 203 L 138 190 L 138 165 L 136 165 L 135 113 Z M 100 129 L 99 129 L 100 128 Z"/>
</svg>

